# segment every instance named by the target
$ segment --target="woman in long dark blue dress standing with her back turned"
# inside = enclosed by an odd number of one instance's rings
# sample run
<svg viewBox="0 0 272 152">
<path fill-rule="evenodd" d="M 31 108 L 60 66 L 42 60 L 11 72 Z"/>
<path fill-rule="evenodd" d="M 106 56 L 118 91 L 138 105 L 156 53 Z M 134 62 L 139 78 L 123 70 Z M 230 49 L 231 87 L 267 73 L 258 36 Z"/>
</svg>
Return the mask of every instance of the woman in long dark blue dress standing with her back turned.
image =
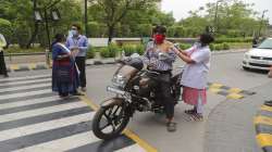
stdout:
<svg viewBox="0 0 272 152">
<path fill-rule="evenodd" d="M 59 92 L 60 98 L 69 94 L 81 96 L 77 92 L 79 86 L 79 73 L 75 64 L 73 53 L 65 47 L 65 37 L 55 35 L 52 45 L 52 90 Z"/>
</svg>

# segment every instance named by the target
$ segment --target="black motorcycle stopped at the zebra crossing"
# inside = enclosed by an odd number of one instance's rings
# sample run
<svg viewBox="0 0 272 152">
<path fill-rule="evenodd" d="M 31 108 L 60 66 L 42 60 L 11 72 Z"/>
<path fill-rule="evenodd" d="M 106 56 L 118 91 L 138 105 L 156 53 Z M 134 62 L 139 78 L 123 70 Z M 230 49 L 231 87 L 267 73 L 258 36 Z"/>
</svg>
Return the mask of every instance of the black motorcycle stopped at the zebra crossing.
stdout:
<svg viewBox="0 0 272 152">
<path fill-rule="evenodd" d="M 166 54 L 159 54 L 163 60 Z M 113 139 L 125 129 L 129 118 L 138 112 L 164 112 L 163 105 L 158 102 L 157 77 L 160 73 L 144 69 L 144 62 L 139 56 L 129 58 L 120 62 L 113 75 L 112 86 L 107 90 L 115 93 L 114 98 L 101 103 L 92 122 L 92 131 L 96 137 Z M 171 77 L 171 93 L 177 103 L 181 97 L 181 72 Z"/>
</svg>

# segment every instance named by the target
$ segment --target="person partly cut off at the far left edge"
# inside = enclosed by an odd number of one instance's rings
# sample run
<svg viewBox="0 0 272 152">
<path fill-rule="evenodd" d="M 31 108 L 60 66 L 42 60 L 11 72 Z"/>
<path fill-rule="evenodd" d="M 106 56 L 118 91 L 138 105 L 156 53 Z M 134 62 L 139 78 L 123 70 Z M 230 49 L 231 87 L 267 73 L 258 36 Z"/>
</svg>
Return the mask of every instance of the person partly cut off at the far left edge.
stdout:
<svg viewBox="0 0 272 152">
<path fill-rule="evenodd" d="M 0 34 L 0 74 L 4 77 L 9 77 L 4 63 L 3 48 L 7 46 L 7 41 L 2 34 Z"/>
</svg>

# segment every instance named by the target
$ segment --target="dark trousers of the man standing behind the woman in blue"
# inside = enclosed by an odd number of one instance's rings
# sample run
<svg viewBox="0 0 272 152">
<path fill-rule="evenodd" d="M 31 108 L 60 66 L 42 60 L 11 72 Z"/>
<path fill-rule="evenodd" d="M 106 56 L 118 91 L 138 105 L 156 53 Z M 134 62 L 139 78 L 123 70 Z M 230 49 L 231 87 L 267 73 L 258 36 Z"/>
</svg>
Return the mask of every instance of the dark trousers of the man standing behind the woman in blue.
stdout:
<svg viewBox="0 0 272 152">
<path fill-rule="evenodd" d="M 79 74 L 79 80 L 81 80 L 81 87 L 86 87 L 86 58 L 85 56 L 76 56 L 75 58 L 76 65 L 81 72 Z"/>
</svg>

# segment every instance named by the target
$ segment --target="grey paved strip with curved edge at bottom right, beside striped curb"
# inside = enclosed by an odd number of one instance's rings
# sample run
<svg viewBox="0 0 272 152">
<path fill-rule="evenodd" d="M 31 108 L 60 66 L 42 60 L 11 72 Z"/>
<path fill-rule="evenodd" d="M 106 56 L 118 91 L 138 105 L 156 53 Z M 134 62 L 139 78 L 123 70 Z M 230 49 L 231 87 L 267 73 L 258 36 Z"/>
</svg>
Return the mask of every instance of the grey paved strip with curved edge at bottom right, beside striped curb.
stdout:
<svg viewBox="0 0 272 152">
<path fill-rule="evenodd" d="M 221 102 L 209 115 L 205 151 L 262 152 L 257 144 L 254 118 L 264 100 L 272 99 L 271 90 L 272 83 L 251 89 L 258 93 L 239 102 Z"/>
</svg>

